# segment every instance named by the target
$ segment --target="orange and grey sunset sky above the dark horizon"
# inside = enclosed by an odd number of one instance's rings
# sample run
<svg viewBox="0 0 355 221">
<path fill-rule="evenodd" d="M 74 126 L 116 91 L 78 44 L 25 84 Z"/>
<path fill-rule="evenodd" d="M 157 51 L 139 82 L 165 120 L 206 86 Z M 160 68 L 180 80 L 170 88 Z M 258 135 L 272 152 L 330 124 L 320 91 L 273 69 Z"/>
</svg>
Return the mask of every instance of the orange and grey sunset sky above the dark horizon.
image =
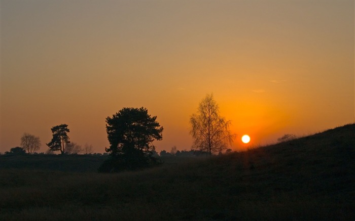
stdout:
<svg viewBox="0 0 355 221">
<path fill-rule="evenodd" d="M 206 94 L 241 150 L 355 122 L 354 1 L 1 1 L 0 152 L 51 127 L 103 153 L 146 107 L 158 152 L 190 150 Z M 242 135 L 251 142 L 243 145 Z"/>
</svg>

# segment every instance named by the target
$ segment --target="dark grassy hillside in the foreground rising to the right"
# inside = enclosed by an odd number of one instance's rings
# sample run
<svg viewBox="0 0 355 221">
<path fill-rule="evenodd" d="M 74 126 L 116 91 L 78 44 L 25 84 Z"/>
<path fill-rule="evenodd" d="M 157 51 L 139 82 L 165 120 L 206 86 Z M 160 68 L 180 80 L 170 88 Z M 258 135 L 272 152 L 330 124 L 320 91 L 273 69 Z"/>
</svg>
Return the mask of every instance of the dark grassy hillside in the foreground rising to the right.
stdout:
<svg viewBox="0 0 355 221">
<path fill-rule="evenodd" d="M 0 220 L 352 220 L 355 124 L 137 172 L 1 169 Z"/>
</svg>

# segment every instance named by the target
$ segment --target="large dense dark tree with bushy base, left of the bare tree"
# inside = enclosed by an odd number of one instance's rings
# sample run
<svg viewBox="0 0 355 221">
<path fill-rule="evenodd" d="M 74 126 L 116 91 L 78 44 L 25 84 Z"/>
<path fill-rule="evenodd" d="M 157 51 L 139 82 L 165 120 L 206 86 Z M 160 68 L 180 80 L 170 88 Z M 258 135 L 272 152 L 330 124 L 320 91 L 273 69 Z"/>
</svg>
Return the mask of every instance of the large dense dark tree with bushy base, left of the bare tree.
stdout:
<svg viewBox="0 0 355 221">
<path fill-rule="evenodd" d="M 106 130 L 110 148 L 110 159 L 104 162 L 99 171 L 120 171 L 137 169 L 159 163 L 153 157 L 154 140 L 162 140 L 163 127 L 156 116 L 148 114 L 146 108 L 123 108 L 112 117 L 106 118 Z"/>
</svg>

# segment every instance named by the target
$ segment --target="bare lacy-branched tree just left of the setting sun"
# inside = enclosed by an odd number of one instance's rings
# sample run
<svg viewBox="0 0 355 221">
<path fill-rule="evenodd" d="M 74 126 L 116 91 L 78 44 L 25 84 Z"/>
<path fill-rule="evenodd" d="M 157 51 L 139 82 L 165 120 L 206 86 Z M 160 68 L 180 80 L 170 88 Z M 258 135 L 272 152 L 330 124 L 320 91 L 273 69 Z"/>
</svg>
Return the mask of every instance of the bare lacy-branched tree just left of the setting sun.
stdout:
<svg viewBox="0 0 355 221">
<path fill-rule="evenodd" d="M 228 144 L 236 137 L 231 134 L 230 120 L 220 116 L 219 107 L 212 94 L 199 104 L 197 114 L 190 118 L 190 134 L 194 138 L 192 149 L 212 153 L 218 153 L 227 149 Z"/>
</svg>

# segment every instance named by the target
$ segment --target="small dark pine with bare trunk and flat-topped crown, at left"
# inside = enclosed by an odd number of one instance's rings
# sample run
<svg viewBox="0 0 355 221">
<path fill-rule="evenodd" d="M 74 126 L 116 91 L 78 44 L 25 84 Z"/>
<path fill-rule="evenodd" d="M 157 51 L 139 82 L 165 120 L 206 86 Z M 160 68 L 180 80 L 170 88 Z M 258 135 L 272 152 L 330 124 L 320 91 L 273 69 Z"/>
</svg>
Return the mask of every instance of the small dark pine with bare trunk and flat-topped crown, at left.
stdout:
<svg viewBox="0 0 355 221">
<path fill-rule="evenodd" d="M 65 153 L 65 144 L 70 143 L 69 137 L 66 134 L 69 132 L 67 124 L 60 124 L 57 126 L 53 126 L 51 128 L 53 133 L 53 138 L 51 142 L 46 144 L 52 151 L 60 150 L 61 154 Z"/>
</svg>

